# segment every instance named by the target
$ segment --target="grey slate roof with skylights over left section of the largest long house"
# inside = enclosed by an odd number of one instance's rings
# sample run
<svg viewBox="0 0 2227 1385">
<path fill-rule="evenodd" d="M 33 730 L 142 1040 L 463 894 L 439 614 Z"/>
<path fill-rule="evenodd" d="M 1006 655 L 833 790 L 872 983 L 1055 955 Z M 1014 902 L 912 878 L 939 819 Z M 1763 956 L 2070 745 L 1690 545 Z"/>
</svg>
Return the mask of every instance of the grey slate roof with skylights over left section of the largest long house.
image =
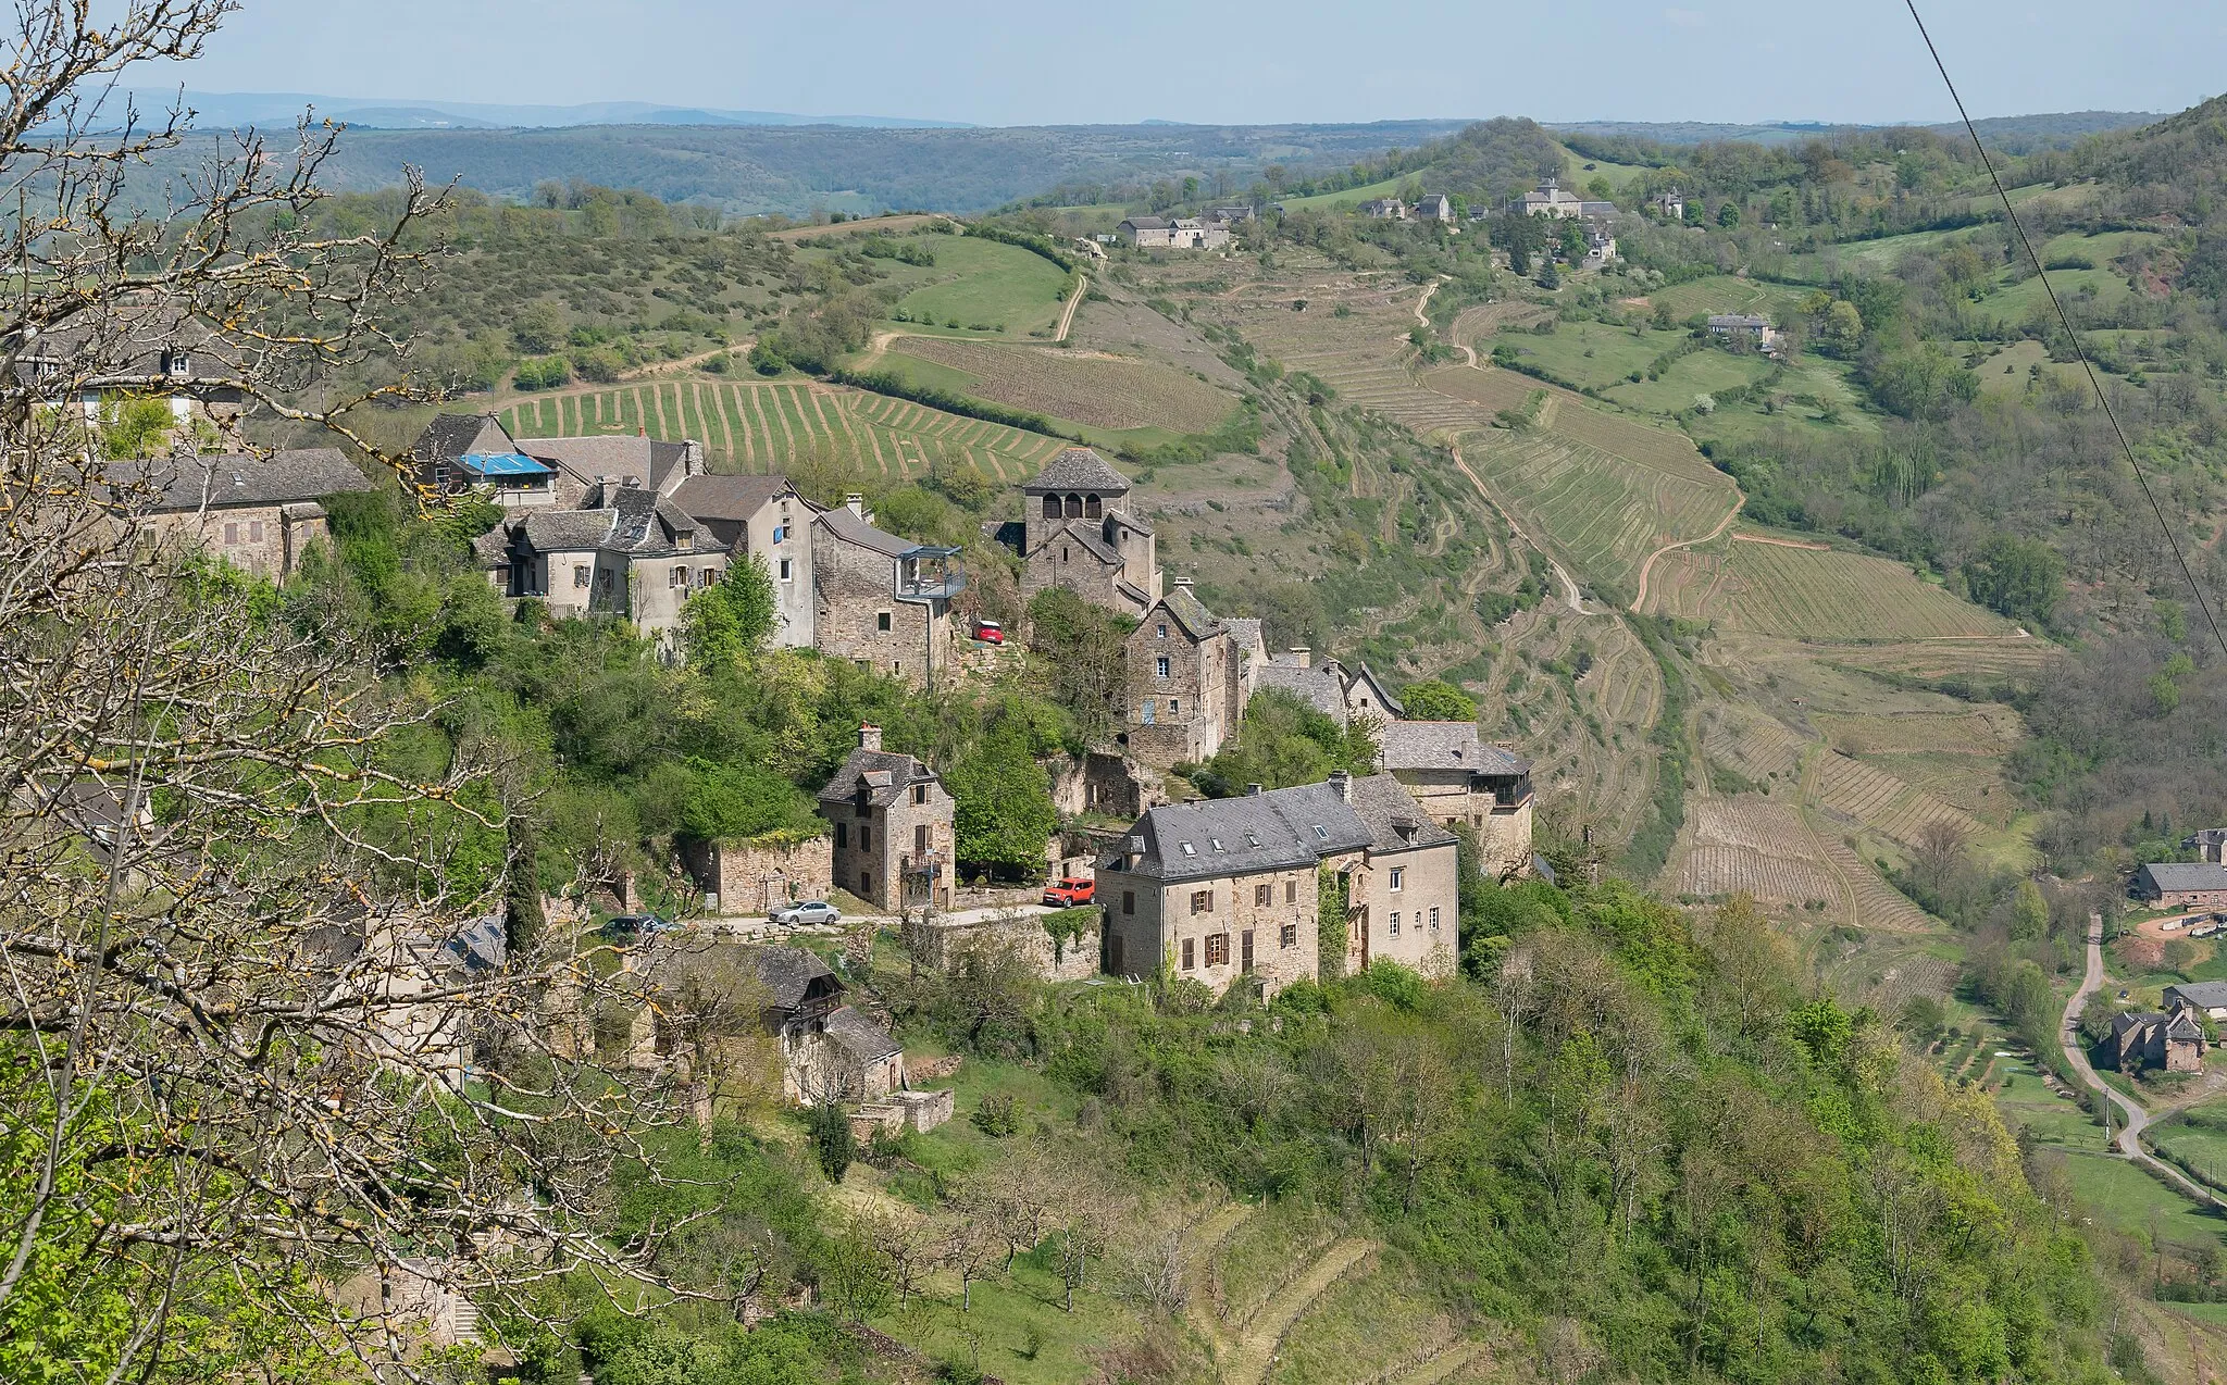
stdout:
<svg viewBox="0 0 2227 1385">
<path fill-rule="evenodd" d="M 1292 871 L 1325 855 L 1363 851 L 1376 839 L 1330 784 L 1169 804 L 1138 817 L 1129 835 L 1145 839 L 1129 873 L 1154 880 Z M 1183 848 L 1185 842 L 1191 851 Z"/>
</svg>

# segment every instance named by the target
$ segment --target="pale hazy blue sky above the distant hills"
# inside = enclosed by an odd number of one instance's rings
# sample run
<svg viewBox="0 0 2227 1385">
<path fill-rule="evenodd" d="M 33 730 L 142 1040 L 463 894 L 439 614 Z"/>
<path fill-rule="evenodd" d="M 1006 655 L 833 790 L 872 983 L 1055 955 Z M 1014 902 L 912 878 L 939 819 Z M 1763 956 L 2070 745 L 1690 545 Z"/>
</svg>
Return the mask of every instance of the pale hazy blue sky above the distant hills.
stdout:
<svg viewBox="0 0 2227 1385">
<path fill-rule="evenodd" d="M 1973 116 L 2180 109 L 2207 0 L 1931 0 Z M 1900 0 L 245 0 L 205 91 L 1049 122 L 1942 120 Z M 140 78 L 145 80 L 145 78 Z"/>
</svg>

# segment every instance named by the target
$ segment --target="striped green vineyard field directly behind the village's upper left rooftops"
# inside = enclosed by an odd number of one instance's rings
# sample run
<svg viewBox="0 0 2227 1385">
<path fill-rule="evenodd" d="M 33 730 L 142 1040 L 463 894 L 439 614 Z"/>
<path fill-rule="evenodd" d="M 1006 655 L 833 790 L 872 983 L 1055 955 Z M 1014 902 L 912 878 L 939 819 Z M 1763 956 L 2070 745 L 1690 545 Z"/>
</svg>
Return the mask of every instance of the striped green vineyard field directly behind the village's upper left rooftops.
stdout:
<svg viewBox="0 0 2227 1385">
<path fill-rule="evenodd" d="M 517 436 L 648 432 L 697 439 L 713 470 L 766 472 L 822 450 L 857 470 L 902 477 L 931 452 L 971 461 L 998 481 L 1024 481 L 1060 439 L 960 419 L 886 394 L 802 381 L 655 381 L 519 399 L 499 416 Z"/>
</svg>

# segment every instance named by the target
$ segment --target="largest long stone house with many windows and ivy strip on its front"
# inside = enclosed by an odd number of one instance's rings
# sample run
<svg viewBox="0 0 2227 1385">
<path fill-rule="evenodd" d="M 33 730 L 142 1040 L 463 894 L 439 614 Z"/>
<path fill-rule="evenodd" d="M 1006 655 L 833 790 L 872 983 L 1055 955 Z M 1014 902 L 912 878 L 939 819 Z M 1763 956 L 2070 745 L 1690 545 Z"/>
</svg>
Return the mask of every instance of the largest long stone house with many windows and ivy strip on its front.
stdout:
<svg viewBox="0 0 2227 1385">
<path fill-rule="evenodd" d="M 1321 873 L 1343 877 L 1345 920 L 1321 917 Z M 1098 862 L 1111 975 L 1203 982 L 1260 978 L 1274 995 L 1314 978 L 1321 931 L 1345 931 L 1347 966 L 1396 960 L 1428 975 L 1454 964 L 1454 835 L 1390 775 L 1169 804 L 1138 817 Z"/>
</svg>

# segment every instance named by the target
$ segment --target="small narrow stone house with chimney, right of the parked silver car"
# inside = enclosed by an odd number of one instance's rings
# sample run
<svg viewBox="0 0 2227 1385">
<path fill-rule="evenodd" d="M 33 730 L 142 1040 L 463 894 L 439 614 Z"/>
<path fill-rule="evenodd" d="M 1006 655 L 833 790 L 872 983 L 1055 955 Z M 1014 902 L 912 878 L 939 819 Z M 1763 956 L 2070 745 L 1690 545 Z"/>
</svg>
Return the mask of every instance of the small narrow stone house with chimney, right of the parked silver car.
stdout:
<svg viewBox="0 0 2227 1385">
<path fill-rule="evenodd" d="M 860 726 L 857 744 L 820 790 L 835 884 L 891 913 L 951 908 L 951 795 L 929 766 L 884 753 L 880 726 Z"/>
</svg>

